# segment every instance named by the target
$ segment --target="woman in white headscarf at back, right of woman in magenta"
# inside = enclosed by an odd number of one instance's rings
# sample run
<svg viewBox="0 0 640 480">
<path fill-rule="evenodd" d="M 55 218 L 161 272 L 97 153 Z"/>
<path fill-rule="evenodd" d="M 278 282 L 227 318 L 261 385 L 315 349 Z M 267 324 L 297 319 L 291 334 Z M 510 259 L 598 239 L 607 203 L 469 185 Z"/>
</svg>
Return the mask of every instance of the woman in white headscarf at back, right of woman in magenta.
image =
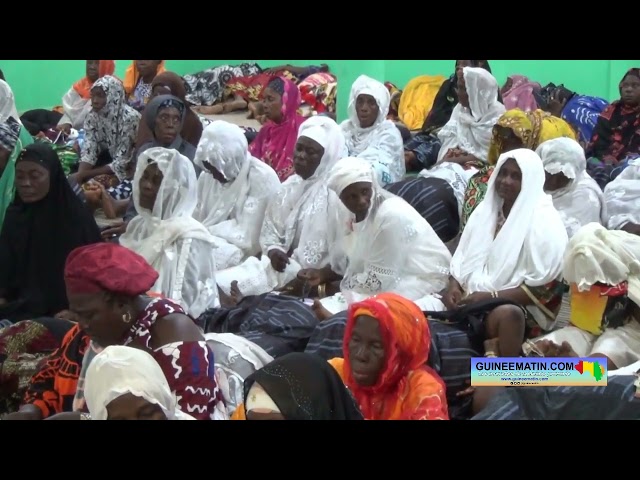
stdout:
<svg viewBox="0 0 640 480">
<path fill-rule="evenodd" d="M 402 180 L 406 173 L 402 135 L 387 120 L 390 100 L 382 83 L 361 75 L 351 87 L 349 119 L 340 125 L 348 156 L 371 162 L 384 187 Z"/>
</svg>

